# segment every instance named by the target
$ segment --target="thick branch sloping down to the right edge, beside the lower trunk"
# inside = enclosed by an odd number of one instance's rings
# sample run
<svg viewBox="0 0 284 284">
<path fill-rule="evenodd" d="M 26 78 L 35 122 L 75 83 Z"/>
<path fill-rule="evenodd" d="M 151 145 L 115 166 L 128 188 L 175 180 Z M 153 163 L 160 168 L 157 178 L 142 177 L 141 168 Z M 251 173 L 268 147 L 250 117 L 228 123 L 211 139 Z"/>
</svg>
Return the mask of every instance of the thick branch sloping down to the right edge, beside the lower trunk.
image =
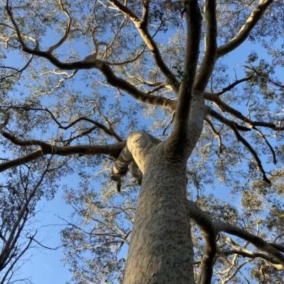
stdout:
<svg viewBox="0 0 284 284">
<path fill-rule="evenodd" d="M 275 249 L 273 246 L 268 244 L 266 241 L 264 241 L 260 237 L 247 232 L 245 229 L 241 229 L 234 225 L 226 224 L 223 222 L 214 222 L 214 227 L 216 229 L 216 232 L 225 232 L 227 234 L 232 234 L 236 237 L 244 239 L 247 242 L 250 242 L 251 244 L 253 244 L 253 246 L 256 246 L 257 249 L 260 249 L 261 251 L 265 251 L 266 253 L 273 256 L 273 258 L 277 259 L 284 268 L 283 254 L 281 254 L 277 249 Z"/>
</svg>

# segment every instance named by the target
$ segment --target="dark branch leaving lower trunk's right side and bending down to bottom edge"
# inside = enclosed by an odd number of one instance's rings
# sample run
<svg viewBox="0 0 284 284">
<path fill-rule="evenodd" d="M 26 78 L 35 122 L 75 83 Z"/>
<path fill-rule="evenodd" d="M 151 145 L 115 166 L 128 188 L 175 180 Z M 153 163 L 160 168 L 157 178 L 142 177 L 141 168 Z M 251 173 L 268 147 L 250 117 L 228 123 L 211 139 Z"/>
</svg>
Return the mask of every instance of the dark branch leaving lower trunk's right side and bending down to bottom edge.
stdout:
<svg viewBox="0 0 284 284">
<path fill-rule="evenodd" d="M 200 228 L 205 242 L 198 284 L 210 284 L 213 274 L 214 257 L 217 250 L 215 228 L 212 220 L 205 212 L 198 208 L 198 206 L 192 201 L 187 201 L 190 211 L 190 219 Z"/>
</svg>

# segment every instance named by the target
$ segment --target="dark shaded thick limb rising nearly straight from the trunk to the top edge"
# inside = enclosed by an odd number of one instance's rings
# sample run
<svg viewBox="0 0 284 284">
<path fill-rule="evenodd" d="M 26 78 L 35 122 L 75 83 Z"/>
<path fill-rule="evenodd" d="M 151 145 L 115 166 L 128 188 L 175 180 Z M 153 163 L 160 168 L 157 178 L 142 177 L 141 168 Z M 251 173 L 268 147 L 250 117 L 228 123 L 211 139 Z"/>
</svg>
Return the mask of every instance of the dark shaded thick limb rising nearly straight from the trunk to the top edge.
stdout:
<svg viewBox="0 0 284 284">
<path fill-rule="evenodd" d="M 192 132 L 189 131 L 190 124 L 192 124 L 192 126 L 194 125 L 197 139 L 200 137 L 198 132 L 201 133 L 203 127 L 203 97 L 202 94 L 192 93 L 200 51 L 200 33 L 202 21 L 198 1 L 185 1 L 185 10 L 187 21 L 185 65 L 183 68 L 182 84 L 180 85 L 180 91 L 178 94 L 178 103 L 175 110 L 173 130 L 168 137 L 166 146 L 167 151 L 174 156 L 184 156 L 185 153 L 188 155 L 189 150 L 190 152 L 192 151 L 192 149 L 189 149 L 188 147 L 188 140 L 190 139 L 190 135 L 192 135 Z M 195 40 L 192 40 L 192 38 Z M 196 116 L 191 110 L 192 98 L 194 98 L 195 108 L 198 110 Z"/>
</svg>

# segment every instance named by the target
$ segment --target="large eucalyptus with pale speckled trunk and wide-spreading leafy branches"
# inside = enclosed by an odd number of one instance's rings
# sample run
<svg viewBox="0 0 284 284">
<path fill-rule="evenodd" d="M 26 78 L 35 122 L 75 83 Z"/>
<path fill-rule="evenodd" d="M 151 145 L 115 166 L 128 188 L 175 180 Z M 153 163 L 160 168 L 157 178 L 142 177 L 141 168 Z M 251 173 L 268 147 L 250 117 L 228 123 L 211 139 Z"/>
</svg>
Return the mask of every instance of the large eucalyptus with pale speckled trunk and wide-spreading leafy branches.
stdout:
<svg viewBox="0 0 284 284">
<path fill-rule="evenodd" d="M 0 170 L 82 179 L 72 280 L 283 281 L 283 23 L 280 0 L 1 1 Z"/>
</svg>

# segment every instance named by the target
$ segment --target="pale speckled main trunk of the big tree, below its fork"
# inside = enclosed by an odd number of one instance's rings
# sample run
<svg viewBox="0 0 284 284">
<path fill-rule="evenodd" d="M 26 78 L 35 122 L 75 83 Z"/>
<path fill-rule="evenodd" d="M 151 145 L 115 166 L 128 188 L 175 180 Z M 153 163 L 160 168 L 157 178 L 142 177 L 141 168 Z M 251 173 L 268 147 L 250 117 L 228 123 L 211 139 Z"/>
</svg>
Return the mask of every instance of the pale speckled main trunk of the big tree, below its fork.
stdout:
<svg viewBox="0 0 284 284">
<path fill-rule="evenodd" d="M 124 284 L 194 283 L 186 159 L 165 154 L 164 145 L 152 144 L 140 153 L 140 145 L 131 147 L 143 181 Z"/>
</svg>

